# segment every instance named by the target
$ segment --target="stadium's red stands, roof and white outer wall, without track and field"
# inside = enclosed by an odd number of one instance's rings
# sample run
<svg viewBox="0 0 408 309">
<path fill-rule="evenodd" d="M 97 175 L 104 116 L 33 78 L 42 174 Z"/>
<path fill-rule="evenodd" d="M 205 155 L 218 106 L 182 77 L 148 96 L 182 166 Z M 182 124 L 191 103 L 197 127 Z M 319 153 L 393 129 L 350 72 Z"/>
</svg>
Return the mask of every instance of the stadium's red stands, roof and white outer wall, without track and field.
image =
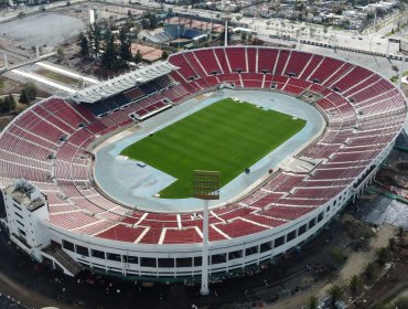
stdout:
<svg viewBox="0 0 408 309">
<path fill-rule="evenodd" d="M 0 217 L 10 238 L 72 276 L 89 268 L 128 278 L 197 277 L 202 212 L 153 213 L 109 200 L 92 180 L 92 150 L 221 86 L 298 97 L 326 128 L 296 156 L 308 170 L 267 170 L 248 194 L 212 209 L 212 276 L 269 264 L 312 238 L 372 181 L 407 116 L 406 98 L 389 81 L 329 56 L 262 46 L 173 54 L 71 98 L 42 100 L 2 131 Z"/>
</svg>

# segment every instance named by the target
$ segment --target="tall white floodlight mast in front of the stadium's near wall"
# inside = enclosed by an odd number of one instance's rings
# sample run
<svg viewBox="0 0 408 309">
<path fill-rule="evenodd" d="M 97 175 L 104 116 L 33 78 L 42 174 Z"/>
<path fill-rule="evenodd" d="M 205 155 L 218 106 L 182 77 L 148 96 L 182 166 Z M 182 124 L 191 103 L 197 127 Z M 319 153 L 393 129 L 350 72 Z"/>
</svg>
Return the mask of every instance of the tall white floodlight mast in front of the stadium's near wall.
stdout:
<svg viewBox="0 0 408 309">
<path fill-rule="evenodd" d="M 219 172 L 218 171 L 194 171 L 193 196 L 204 201 L 203 219 L 203 253 L 200 294 L 206 296 L 208 288 L 208 204 L 210 200 L 219 200 Z"/>
</svg>

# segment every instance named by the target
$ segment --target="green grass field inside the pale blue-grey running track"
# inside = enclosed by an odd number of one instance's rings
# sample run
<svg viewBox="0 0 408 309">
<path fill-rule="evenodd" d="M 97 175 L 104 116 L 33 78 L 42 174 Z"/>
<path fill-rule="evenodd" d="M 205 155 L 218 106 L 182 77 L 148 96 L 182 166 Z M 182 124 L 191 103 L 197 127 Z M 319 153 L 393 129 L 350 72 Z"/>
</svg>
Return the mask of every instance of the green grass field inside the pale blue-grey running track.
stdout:
<svg viewBox="0 0 408 309">
<path fill-rule="evenodd" d="M 302 119 L 248 103 L 222 99 L 121 151 L 178 180 L 161 198 L 192 196 L 193 171 L 221 171 L 225 185 L 305 125 Z"/>
</svg>

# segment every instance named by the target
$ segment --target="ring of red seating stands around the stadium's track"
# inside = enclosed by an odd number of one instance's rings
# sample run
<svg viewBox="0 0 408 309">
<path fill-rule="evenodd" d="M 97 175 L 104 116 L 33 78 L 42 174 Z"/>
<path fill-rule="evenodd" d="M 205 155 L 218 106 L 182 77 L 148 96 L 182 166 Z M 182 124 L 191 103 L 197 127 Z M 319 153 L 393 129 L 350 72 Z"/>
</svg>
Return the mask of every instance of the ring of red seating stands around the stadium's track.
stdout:
<svg viewBox="0 0 408 309">
<path fill-rule="evenodd" d="M 321 55 L 235 46 L 176 53 L 168 61 L 180 68 L 158 82 L 162 89 L 149 97 L 139 88 L 126 92 L 133 102 L 107 116 L 97 118 L 82 105 L 54 97 L 22 113 L 0 136 L 1 185 L 17 178 L 34 182 L 49 198 L 49 222 L 75 233 L 142 244 L 201 243 L 202 213 L 130 211 L 100 195 L 87 170 L 90 142 L 129 126 L 130 114 L 144 119 L 170 107 L 169 102 L 182 104 L 219 83 L 316 94 L 328 127 L 299 156 L 324 161 L 311 173 L 277 171 L 246 196 L 212 210 L 210 241 L 225 241 L 277 227 L 323 205 L 371 164 L 406 119 L 405 97 L 388 81 Z"/>
</svg>

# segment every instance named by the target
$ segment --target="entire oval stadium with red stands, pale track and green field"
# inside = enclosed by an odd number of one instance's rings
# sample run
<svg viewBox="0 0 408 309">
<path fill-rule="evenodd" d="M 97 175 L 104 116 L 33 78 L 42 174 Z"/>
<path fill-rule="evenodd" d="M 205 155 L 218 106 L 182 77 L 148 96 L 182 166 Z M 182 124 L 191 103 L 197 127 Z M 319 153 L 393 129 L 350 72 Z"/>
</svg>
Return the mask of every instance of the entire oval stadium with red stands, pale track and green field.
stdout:
<svg viewBox="0 0 408 309">
<path fill-rule="evenodd" d="M 200 280 L 202 201 L 189 183 L 168 185 L 195 166 L 224 169 L 208 271 L 244 273 L 298 249 L 354 201 L 406 117 L 394 84 L 342 60 L 264 46 L 180 52 L 19 115 L 0 137 L 1 222 L 71 276 Z M 184 175 L 183 156 L 193 160 Z"/>
</svg>

